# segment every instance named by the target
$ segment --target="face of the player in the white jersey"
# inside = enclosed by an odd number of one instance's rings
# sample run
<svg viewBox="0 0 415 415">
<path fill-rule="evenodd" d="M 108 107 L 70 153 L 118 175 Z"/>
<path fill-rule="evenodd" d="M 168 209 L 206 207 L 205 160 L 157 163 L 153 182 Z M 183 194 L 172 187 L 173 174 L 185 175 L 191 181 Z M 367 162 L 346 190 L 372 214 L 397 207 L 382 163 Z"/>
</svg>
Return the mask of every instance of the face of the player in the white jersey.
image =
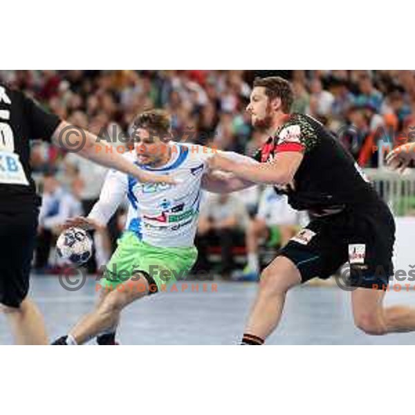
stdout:
<svg viewBox="0 0 415 415">
<path fill-rule="evenodd" d="M 140 165 L 159 165 L 168 158 L 168 144 L 146 129 L 139 128 L 134 134 L 134 148 Z"/>
</svg>

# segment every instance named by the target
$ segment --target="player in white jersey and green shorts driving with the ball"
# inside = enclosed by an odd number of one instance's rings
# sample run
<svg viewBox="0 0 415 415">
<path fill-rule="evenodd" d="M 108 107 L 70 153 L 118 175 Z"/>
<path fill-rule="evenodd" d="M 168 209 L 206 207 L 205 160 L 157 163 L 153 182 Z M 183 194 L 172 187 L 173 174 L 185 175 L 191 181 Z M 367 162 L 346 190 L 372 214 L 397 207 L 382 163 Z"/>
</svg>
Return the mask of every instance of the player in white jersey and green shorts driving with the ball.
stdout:
<svg viewBox="0 0 415 415">
<path fill-rule="evenodd" d="M 202 190 L 227 193 L 253 185 L 232 174 L 211 172 L 208 159 L 216 150 L 170 141 L 170 117 L 165 111 L 140 114 L 134 131 L 135 147 L 125 157 L 146 172 L 174 176 L 176 185 L 140 183 L 111 171 L 89 216 L 68 221 L 71 226 L 102 228 L 128 198 L 124 233 L 100 280 L 100 301 L 68 335 L 53 344 L 82 344 L 95 336 L 98 344 L 116 344 L 122 308 L 183 279 L 196 261 L 194 236 Z M 239 154 L 221 154 L 257 163 Z"/>
</svg>

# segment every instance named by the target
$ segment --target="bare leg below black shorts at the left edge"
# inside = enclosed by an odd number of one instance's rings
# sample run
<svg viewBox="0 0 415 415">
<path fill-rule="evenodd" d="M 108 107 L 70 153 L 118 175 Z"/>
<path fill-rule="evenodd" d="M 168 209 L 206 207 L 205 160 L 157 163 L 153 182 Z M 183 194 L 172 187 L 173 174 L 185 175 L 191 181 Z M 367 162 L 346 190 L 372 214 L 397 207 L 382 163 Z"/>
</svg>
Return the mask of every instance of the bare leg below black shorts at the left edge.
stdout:
<svg viewBox="0 0 415 415">
<path fill-rule="evenodd" d="M 19 306 L 5 306 L 5 313 L 16 344 L 48 344 L 44 318 L 35 303 L 26 297 Z"/>
</svg>

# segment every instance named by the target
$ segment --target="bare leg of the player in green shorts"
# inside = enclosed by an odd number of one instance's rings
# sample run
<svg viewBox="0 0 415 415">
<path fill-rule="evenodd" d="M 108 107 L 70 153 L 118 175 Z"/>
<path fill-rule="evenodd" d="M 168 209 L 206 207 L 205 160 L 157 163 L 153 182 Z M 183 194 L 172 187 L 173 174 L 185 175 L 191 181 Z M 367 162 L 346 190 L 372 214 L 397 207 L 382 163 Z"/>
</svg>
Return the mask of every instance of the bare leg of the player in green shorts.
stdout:
<svg viewBox="0 0 415 415">
<path fill-rule="evenodd" d="M 134 300 L 145 297 L 149 292 L 150 287 L 145 276 L 134 275 L 127 282 L 105 295 L 95 310 L 86 315 L 69 331 L 69 335 L 76 344 L 82 344 L 96 335 L 112 329 L 118 324 L 122 309 Z"/>
</svg>

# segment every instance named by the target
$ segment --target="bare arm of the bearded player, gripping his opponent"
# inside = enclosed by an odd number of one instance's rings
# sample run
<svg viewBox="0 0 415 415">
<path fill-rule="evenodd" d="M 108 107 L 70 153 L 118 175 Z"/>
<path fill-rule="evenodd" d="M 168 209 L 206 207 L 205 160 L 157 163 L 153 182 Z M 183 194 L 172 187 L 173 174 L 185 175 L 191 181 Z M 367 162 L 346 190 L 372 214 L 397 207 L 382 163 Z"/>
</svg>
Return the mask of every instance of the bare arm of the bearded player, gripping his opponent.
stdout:
<svg viewBox="0 0 415 415">
<path fill-rule="evenodd" d="M 246 181 L 254 183 L 286 185 L 293 181 L 302 162 L 303 154 L 297 151 L 284 151 L 275 156 L 272 163 L 240 163 L 222 155 L 208 160 L 211 169 L 230 172 Z"/>
</svg>

